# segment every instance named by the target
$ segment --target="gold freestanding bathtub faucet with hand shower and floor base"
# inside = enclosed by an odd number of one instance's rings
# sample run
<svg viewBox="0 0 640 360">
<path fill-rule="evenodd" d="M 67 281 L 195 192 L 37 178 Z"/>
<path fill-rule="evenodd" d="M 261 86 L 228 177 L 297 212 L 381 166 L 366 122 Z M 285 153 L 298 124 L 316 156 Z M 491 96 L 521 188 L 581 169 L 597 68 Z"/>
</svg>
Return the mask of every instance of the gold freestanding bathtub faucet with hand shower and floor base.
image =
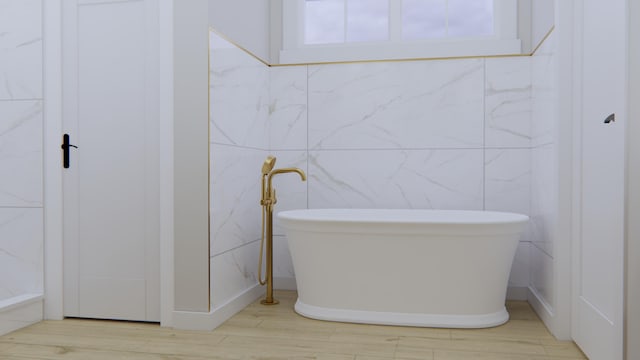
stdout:
<svg viewBox="0 0 640 360">
<path fill-rule="evenodd" d="M 267 157 L 262 166 L 262 199 L 260 204 L 263 206 L 262 211 L 262 239 L 260 241 L 260 261 L 258 262 L 258 281 L 260 285 L 267 285 L 267 294 L 264 300 L 260 301 L 263 305 L 275 305 L 279 301 L 273 298 L 273 206 L 278 202 L 276 199 L 276 190 L 271 183 L 273 177 L 278 174 L 295 172 L 300 175 L 302 181 L 307 180 L 304 171 L 298 168 L 282 168 L 272 170 L 276 159 L 273 156 Z M 266 180 L 266 187 L 265 187 Z M 265 219 L 266 216 L 266 219 Z M 266 221 L 265 221 L 266 220 Z M 266 230 L 266 231 L 265 231 Z M 266 234 L 265 234 L 266 233 Z M 262 280 L 262 253 L 263 245 L 267 246 L 267 264 L 266 279 Z"/>
</svg>

